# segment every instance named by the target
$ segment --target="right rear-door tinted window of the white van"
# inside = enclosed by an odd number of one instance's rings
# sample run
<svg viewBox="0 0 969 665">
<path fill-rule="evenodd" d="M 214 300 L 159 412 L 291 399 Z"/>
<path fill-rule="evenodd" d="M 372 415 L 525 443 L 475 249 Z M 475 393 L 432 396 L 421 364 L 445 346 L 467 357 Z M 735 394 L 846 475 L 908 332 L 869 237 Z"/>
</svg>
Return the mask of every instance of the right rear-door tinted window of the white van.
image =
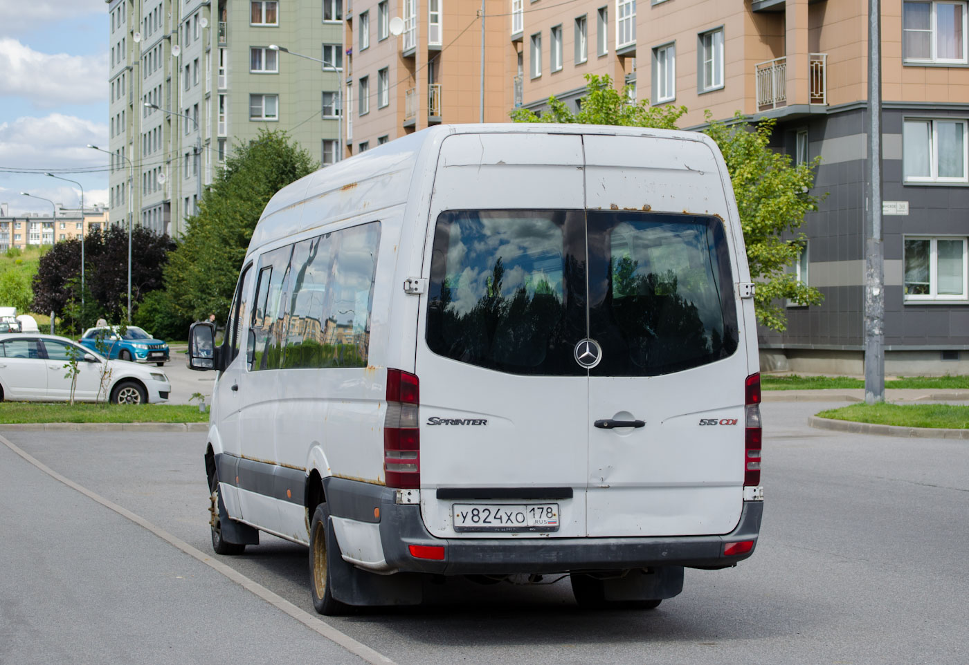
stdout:
<svg viewBox="0 0 969 665">
<path fill-rule="evenodd" d="M 653 376 L 731 355 L 736 308 L 716 217 L 588 212 L 593 376 Z"/>
</svg>

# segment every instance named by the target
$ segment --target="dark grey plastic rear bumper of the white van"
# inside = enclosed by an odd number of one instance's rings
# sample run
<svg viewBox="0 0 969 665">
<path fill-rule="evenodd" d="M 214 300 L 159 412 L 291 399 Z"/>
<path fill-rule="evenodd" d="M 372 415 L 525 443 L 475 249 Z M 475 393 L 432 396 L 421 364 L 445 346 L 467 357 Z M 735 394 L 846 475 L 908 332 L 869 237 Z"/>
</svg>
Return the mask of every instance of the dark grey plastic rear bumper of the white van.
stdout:
<svg viewBox="0 0 969 665">
<path fill-rule="evenodd" d="M 342 484 L 342 483 L 339 483 Z M 355 483 L 357 484 L 357 483 Z M 388 568 L 401 572 L 445 575 L 560 573 L 572 570 L 621 570 L 661 565 L 716 568 L 747 559 L 754 550 L 724 557 L 725 543 L 756 541 L 764 512 L 763 501 L 744 501 L 736 528 L 726 535 L 623 538 L 437 538 L 424 528 L 420 505 L 399 505 L 393 490 L 372 488 L 378 499 L 380 536 Z M 334 515 L 361 517 L 330 483 L 328 501 Z M 359 505 L 359 496 L 357 498 Z M 342 505 L 341 505 L 342 504 Z M 372 505 L 372 503 L 370 503 Z M 341 508 L 346 508 L 341 510 Z M 357 513 L 346 514 L 346 513 Z M 372 514 L 372 513 L 371 513 Z M 364 521 L 373 522 L 372 517 Z M 417 559 L 410 546 L 444 547 L 444 559 Z"/>
</svg>

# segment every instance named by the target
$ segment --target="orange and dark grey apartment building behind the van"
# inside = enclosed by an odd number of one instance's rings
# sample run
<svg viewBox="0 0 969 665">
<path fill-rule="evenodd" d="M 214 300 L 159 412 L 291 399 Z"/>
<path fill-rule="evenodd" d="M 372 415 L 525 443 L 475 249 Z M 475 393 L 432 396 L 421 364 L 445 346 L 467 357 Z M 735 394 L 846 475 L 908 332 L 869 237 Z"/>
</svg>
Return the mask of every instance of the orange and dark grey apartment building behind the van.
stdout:
<svg viewBox="0 0 969 665">
<path fill-rule="evenodd" d="M 800 279 L 821 305 L 762 330 L 765 366 L 862 373 L 867 0 L 485 0 L 485 121 L 549 95 L 578 108 L 586 74 L 653 105 L 777 119 L 774 147 L 822 158 Z M 886 370 L 969 373 L 966 0 L 882 0 Z M 358 0 L 346 17 L 353 152 L 437 122 L 476 122 L 473 0 Z M 398 14 L 399 13 L 399 14 Z M 403 19 L 399 37 L 390 18 Z M 500 34 L 495 34 L 497 31 Z M 350 74 L 348 72 L 348 74 Z M 367 102 L 363 102 L 363 98 Z"/>
</svg>

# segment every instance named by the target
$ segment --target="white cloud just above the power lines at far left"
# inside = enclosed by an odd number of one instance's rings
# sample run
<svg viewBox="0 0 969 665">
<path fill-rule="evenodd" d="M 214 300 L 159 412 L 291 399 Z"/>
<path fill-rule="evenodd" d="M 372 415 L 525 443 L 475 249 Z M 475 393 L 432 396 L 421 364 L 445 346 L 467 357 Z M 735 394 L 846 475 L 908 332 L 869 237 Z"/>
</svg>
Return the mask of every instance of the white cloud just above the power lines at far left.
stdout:
<svg viewBox="0 0 969 665">
<path fill-rule="evenodd" d="M 109 156 L 87 147 L 108 145 L 108 125 L 51 113 L 0 123 L 0 166 L 5 169 L 108 166 Z"/>
</svg>

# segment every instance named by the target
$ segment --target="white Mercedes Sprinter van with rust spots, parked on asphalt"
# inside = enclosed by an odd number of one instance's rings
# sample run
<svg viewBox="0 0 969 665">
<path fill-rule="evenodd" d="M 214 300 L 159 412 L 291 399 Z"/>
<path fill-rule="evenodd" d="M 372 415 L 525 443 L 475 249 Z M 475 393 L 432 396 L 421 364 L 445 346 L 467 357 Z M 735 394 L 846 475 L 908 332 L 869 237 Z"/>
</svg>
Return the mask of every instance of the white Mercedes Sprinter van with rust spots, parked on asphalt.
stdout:
<svg viewBox="0 0 969 665">
<path fill-rule="evenodd" d="M 655 607 L 757 542 L 752 293 L 701 134 L 442 125 L 308 175 L 190 333 L 215 551 L 309 545 L 323 614 L 428 574 Z"/>
</svg>

